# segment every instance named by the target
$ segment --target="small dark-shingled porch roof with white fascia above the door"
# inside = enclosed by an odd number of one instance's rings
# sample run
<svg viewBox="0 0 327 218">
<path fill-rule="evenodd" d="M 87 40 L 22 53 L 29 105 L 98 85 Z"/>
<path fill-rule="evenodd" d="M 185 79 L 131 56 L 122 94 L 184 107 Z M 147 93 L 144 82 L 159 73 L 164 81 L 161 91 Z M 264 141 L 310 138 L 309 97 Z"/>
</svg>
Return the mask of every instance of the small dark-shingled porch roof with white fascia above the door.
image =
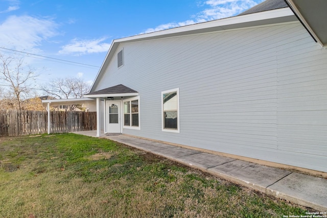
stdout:
<svg viewBox="0 0 327 218">
<path fill-rule="evenodd" d="M 134 96 L 138 95 L 138 92 L 128 88 L 122 84 L 112 86 L 109 88 L 101 89 L 98 91 L 90 92 L 88 94 L 84 94 L 84 96 L 87 96 L 89 98 L 95 98 L 95 97 L 109 97 L 109 96 Z"/>
</svg>

